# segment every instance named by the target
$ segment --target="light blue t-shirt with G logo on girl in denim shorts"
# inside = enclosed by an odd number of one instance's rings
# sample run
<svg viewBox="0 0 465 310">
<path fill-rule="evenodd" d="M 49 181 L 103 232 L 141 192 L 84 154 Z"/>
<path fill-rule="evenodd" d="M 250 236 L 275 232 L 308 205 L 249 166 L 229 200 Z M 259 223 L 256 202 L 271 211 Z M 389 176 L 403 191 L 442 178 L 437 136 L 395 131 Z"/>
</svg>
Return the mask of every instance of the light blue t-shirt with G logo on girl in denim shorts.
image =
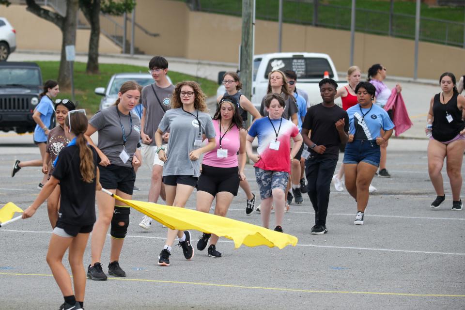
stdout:
<svg viewBox="0 0 465 310">
<path fill-rule="evenodd" d="M 394 128 L 387 112 L 373 104 L 371 108 L 360 108 L 360 104 L 347 109 L 349 115 L 349 134 L 356 140 L 375 140 L 380 137 L 381 129 L 387 131 Z"/>
</svg>

